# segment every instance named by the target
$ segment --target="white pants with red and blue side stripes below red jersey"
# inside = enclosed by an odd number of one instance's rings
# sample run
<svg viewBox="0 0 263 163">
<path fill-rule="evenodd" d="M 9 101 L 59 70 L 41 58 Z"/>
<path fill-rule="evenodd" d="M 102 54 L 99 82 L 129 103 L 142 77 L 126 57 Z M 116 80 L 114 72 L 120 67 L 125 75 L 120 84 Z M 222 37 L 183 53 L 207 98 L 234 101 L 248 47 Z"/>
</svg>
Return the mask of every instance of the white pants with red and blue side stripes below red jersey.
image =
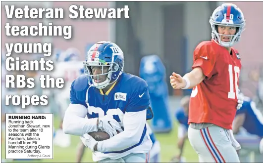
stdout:
<svg viewBox="0 0 263 163">
<path fill-rule="evenodd" d="M 190 144 L 198 154 L 200 163 L 239 163 L 227 131 L 216 125 L 203 129 L 188 128 Z"/>
</svg>

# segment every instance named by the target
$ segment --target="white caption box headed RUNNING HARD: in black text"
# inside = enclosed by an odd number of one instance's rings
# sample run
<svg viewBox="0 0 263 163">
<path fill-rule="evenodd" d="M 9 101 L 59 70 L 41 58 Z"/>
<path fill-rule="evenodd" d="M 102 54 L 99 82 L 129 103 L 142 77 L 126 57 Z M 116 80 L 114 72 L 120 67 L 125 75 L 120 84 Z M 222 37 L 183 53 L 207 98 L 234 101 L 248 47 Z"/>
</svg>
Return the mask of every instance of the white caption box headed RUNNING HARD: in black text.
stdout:
<svg viewBox="0 0 263 163">
<path fill-rule="evenodd" d="M 53 114 L 6 114 L 6 159 L 53 159 Z"/>
</svg>

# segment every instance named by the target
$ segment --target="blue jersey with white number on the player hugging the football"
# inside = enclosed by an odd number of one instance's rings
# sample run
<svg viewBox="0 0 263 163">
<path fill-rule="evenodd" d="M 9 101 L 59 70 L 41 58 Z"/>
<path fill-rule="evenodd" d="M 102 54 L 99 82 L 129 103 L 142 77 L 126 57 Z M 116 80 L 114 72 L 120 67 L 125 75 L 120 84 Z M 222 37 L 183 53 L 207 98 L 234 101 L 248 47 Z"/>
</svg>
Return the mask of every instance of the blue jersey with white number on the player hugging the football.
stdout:
<svg viewBox="0 0 263 163">
<path fill-rule="evenodd" d="M 104 95 L 100 89 L 90 86 L 88 80 L 86 75 L 82 75 L 72 82 L 70 101 L 72 104 L 81 104 L 88 108 L 87 117 L 89 119 L 111 115 L 123 128 L 122 120 L 125 112 L 143 111 L 150 104 L 148 85 L 137 76 L 122 73 L 108 95 Z M 145 125 L 141 141 L 135 146 L 110 153 L 123 153 L 140 145 L 146 131 Z"/>
</svg>

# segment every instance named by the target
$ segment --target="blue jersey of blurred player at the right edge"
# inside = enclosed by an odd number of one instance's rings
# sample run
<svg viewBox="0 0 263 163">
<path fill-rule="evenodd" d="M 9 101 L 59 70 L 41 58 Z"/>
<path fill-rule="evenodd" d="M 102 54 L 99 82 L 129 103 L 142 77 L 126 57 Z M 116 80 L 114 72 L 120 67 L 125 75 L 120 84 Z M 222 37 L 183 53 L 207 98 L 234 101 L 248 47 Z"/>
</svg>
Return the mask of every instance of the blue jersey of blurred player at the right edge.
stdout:
<svg viewBox="0 0 263 163">
<path fill-rule="evenodd" d="M 244 100 L 242 107 L 237 110 L 236 115 L 242 113 L 246 116 L 243 127 L 249 133 L 263 137 L 263 116 L 256 108 L 255 102 L 251 99 Z"/>
</svg>

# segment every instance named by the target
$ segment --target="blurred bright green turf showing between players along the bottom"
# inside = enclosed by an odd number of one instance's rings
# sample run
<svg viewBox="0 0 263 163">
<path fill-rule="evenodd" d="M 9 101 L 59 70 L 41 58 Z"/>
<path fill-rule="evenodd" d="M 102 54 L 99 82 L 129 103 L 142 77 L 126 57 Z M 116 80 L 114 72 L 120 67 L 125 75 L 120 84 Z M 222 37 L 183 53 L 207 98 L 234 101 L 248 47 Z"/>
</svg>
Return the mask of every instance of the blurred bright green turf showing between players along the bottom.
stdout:
<svg viewBox="0 0 263 163">
<path fill-rule="evenodd" d="M 58 126 L 57 119 L 54 118 L 54 125 Z M 167 163 L 171 160 L 171 158 L 178 154 L 178 150 L 176 148 L 176 142 L 177 142 L 177 123 L 174 123 L 174 128 L 172 132 L 168 134 L 156 134 L 158 141 L 161 144 L 161 162 Z M 76 146 L 78 142 L 80 141 L 78 136 L 72 136 L 71 137 L 71 145 L 67 148 L 60 148 L 57 146 L 53 147 L 54 155 L 53 160 L 32 160 L 34 163 L 74 163 L 76 161 Z M 4 142 L 1 144 L 1 154 L 2 159 L 5 158 L 5 144 Z M 189 144 L 189 141 L 187 140 L 185 147 L 184 147 L 184 154 L 187 162 L 197 162 L 198 157 L 191 145 Z M 7 162 L 16 163 L 13 161 L 6 160 Z M 93 163 L 92 161 L 92 153 L 90 150 L 86 150 L 84 154 L 84 158 L 82 160 L 83 163 Z M 17 162 L 17 163 L 28 163 L 26 162 Z M 30 162 L 29 162 L 30 163 Z"/>
</svg>

